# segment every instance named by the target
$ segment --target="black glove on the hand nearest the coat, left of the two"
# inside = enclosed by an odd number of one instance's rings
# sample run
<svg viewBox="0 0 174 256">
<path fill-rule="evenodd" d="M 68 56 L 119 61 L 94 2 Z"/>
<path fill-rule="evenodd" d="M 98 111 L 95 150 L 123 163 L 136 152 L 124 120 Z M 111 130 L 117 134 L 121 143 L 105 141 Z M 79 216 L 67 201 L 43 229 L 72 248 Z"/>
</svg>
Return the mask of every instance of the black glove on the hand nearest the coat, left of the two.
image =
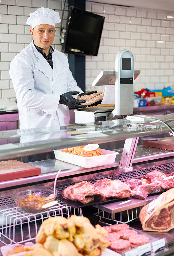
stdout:
<svg viewBox="0 0 174 256">
<path fill-rule="evenodd" d="M 76 100 L 72 97 L 76 94 L 79 94 L 79 92 L 65 92 L 61 94 L 59 103 L 70 108 L 86 108 L 86 105 L 80 105 L 80 103 L 85 103 L 86 100 Z"/>
</svg>

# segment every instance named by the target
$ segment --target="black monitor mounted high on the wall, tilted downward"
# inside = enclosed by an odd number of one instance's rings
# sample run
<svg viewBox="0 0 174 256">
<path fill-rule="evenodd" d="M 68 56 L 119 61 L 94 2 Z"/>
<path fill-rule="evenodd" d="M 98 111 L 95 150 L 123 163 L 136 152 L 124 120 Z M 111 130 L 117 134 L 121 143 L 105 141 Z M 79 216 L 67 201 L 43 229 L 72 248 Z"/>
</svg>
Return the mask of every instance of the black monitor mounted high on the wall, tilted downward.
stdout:
<svg viewBox="0 0 174 256">
<path fill-rule="evenodd" d="M 105 17 L 71 6 L 62 52 L 97 56 Z"/>
</svg>

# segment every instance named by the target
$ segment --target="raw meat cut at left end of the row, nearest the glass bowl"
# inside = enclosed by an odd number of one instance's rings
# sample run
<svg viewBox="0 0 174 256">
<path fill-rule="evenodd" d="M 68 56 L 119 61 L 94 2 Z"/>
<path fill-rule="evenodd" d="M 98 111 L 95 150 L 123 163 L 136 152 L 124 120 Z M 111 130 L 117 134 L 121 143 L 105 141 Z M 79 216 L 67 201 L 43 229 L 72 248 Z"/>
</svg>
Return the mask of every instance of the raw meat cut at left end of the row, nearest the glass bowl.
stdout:
<svg viewBox="0 0 174 256">
<path fill-rule="evenodd" d="M 100 195 L 98 188 L 86 180 L 69 186 L 62 191 L 63 198 L 79 201 L 82 204 L 88 204 L 93 201 L 95 195 L 102 196 Z"/>
</svg>

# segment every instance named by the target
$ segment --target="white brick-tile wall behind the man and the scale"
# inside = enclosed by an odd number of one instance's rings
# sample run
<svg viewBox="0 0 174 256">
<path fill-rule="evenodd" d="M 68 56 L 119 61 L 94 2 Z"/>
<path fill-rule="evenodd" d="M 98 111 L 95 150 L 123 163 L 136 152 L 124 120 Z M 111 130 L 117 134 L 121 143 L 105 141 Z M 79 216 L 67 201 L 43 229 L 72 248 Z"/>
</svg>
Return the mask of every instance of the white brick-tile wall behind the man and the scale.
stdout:
<svg viewBox="0 0 174 256">
<path fill-rule="evenodd" d="M 8 74 L 10 61 L 31 42 L 29 13 L 39 7 L 60 12 L 62 0 L 1 0 L 0 3 L 0 98 L 15 100 Z M 115 68 L 115 56 L 122 49 L 133 52 L 135 68 L 141 75 L 135 80 L 135 91 L 142 87 L 162 89 L 174 86 L 174 13 L 114 7 L 86 2 L 86 10 L 105 16 L 98 56 L 86 57 L 86 90 L 102 69 Z M 67 17 L 65 12 L 64 17 Z M 65 20 L 64 20 L 65 22 Z M 54 47 L 61 51 L 57 27 Z M 164 41 L 158 43 L 156 41 Z M 99 88 L 102 89 L 102 88 Z"/>
</svg>

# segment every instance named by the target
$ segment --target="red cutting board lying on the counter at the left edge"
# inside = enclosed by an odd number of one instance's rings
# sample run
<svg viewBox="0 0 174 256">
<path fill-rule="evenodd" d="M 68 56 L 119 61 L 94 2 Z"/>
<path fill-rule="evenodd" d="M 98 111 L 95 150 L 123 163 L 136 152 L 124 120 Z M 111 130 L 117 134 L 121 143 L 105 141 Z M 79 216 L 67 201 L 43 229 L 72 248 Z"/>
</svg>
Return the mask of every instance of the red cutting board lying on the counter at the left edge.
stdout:
<svg viewBox="0 0 174 256">
<path fill-rule="evenodd" d="M 40 168 L 30 164 L 17 160 L 0 162 L 0 181 L 20 179 L 39 174 L 41 174 Z"/>
</svg>

